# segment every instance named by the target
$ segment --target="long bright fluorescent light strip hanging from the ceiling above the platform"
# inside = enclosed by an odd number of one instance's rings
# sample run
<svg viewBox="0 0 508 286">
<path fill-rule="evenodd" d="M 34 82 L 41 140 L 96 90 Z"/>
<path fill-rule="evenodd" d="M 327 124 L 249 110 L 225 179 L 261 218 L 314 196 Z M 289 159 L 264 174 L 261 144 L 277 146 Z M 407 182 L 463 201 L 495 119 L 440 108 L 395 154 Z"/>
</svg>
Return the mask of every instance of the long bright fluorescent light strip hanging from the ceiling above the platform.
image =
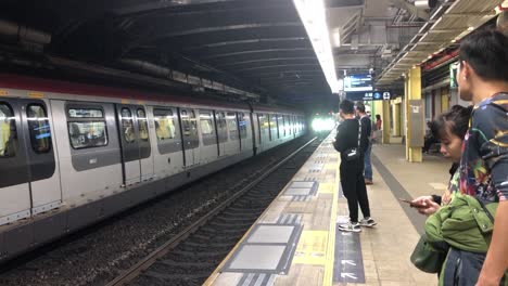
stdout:
<svg viewBox="0 0 508 286">
<path fill-rule="evenodd" d="M 339 93 L 325 0 L 293 0 L 332 93 Z"/>
</svg>

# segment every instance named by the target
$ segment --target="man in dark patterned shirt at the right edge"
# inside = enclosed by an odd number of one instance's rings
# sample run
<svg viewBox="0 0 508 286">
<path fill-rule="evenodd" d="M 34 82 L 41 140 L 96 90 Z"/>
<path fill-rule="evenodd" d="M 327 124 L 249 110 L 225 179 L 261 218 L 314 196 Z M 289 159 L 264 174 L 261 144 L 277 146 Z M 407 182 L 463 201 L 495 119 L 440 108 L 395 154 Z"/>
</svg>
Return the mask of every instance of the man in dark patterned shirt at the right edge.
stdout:
<svg viewBox="0 0 508 286">
<path fill-rule="evenodd" d="M 472 101 L 474 109 L 462 146 L 458 188 L 484 204 L 499 205 L 486 257 L 450 251 L 448 260 L 453 256 L 462 261 L 457 262 L 461 271 L 455 273 L 463 278 L 460 285 L 473 285 L 477 277 L 479 286 L 499 285 L 508 269 L 508 38 L 494 30 L 475 32 L 460 44 L 459 58 L 459 94 Z"/>
</svg>

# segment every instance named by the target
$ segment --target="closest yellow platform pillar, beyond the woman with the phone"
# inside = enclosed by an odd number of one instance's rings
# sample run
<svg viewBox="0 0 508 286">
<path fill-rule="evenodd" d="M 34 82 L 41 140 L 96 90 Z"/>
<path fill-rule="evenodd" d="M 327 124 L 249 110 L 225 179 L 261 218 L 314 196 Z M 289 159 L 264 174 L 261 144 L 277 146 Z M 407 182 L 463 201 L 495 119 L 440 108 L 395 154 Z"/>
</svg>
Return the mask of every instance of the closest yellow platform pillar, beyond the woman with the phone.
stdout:
<svg viewBox="0 0 508 286">
<path fill-rule="evenodd" d="M 411 106 L 411 101 L 414 100 L 421 100 L 421 68 L 419 66 L 416 66 L 414 68 L 410 68 L 407 72 L 407 76 L 405 79 L 405 102 L 406 102 L 406 159 L 411 162 L 419 162 L 422 161 L 423 156 L 421 154 L 421 146 L 411 146 L 411 142 L 415 141 L 414 138 L 411 136 L 418 136 L 418 139 L 423 139 L 423 130 L 411 130 L 411 128 L 415 128 L 415 123 L 417 122 L 411 122 L 411 120 L 415 120 L 415 117 L 411 116 L 411 110 L 415 109 L 414 106 Z M 420 113 L 424 113 L 423 108 L 419 109 Z M 423 127 L 423 122 L 422 127 Z M 419 129 L 419 128 L 418 128 Z M 421 134 L 420 134 L 421 133 Z M 421 136 L 421 138 L 420 138 Z"/>
</svg>

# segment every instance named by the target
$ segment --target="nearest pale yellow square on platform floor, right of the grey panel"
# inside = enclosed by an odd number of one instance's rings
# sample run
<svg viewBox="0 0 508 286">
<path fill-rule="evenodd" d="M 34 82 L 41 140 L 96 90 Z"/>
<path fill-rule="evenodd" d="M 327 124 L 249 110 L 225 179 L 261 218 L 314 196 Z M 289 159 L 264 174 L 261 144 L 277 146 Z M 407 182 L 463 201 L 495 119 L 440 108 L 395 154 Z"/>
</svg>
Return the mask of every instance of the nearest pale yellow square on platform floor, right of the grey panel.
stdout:
<svg viewBox="0 0 508 286">
<path fill-rule="evenodd" d="M 328 232 L 326 231 L 303 231 L 293 264 L 325 265 L 327 240 Z"/>
</svg>

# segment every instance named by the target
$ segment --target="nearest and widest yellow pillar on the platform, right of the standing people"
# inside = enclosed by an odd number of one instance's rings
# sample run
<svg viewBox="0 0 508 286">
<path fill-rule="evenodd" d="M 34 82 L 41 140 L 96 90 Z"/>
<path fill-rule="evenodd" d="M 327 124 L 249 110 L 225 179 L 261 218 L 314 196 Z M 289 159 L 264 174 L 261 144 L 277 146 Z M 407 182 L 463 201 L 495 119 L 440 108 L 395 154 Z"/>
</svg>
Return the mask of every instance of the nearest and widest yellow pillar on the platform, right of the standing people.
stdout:
<svg viewBox="0 0 508 286">
<path fill-rule="evenodd" d="M 418 162 L 423 160 L 421 154 L 421 147 L 409 147 L 409 142 L 411 142 L 411 118 L 409 115 L 409 101 L 410 100 L 421 100 L 421 68 L 419 66 L 410 68 L 408 70 L 408 76 L 406 77 L 406 159 L 411 162 Z M 419 110 L 423 113 L 423 108 Z M 422 122 L 423 123 L 423 122 Z M 423 128 L 421 129 L 421 136 L 423 138 Z M 420 134 L 418 134 L 420 135 Z"/>
</svg>

